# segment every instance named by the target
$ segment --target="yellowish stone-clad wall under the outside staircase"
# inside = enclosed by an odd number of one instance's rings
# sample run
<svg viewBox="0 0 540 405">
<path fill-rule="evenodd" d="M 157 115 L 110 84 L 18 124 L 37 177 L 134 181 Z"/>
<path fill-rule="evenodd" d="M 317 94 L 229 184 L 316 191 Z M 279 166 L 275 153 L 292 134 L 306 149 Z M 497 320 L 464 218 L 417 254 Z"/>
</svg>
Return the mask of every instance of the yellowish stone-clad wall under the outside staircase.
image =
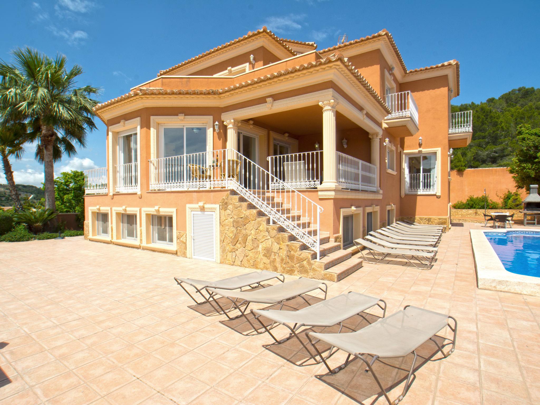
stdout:
<svg viewBox="0 0 540 405">
<path fill-rule="evenodd" d="M 227 194 L 219 203 L 221 263 L 325 278 L 323 264 L 312 260 L 311 251 L 295 251 L 299 244 L 288 243 L 288 233 L 280 232 L 279 225 L 269 225 L 268 217 L 243 201 L 239 195 Z"/>
</svg>

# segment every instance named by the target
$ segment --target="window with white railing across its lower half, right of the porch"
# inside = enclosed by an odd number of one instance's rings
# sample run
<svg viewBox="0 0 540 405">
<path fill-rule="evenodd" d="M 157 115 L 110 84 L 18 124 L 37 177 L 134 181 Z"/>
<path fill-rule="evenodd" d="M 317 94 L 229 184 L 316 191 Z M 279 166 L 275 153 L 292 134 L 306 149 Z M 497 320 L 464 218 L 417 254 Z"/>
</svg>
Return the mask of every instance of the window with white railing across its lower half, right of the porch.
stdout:
<svg viewBox="0 0 540 405">
<path fill-rule="evenodd" d="M 437 190 L 435 153 L 407 155 L 405 171 L 407 194 L 435 194 Z"/>
</svg>

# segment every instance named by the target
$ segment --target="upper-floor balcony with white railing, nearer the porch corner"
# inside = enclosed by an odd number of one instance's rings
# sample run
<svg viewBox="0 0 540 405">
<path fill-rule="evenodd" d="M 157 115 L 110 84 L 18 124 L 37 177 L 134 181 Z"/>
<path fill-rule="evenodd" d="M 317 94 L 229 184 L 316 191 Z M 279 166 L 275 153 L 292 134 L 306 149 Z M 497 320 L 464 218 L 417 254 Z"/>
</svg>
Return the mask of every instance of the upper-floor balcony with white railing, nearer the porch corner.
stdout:
<svg viewBox="0 0 540 405">
<path fill-rule="evenodd" d="M 386 95 L 386 105 L 390 109 L 390 114 L 384 118 L 388 132 L 396 138 L 410 137 L 418 132 L 418 106 L 410 91 Z"/>
</svg>

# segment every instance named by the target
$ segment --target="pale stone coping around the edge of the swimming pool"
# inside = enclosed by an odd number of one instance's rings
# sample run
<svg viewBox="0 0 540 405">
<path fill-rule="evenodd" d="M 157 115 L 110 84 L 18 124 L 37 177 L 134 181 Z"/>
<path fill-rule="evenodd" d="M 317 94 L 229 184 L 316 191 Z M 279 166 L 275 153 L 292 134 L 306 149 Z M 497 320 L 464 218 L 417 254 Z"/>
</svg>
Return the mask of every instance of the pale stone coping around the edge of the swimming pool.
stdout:
<svg viewBox="0 0 540 405">
<path fill-rule="evenodd" d="M 485 237 L 486 232 L 506 233 L 532 230 L 523 228 L 470 230 L 478 288 L 540 296 L 540 277 L 515 274 L 504 268 L 501 259 Z"/>
</svg>

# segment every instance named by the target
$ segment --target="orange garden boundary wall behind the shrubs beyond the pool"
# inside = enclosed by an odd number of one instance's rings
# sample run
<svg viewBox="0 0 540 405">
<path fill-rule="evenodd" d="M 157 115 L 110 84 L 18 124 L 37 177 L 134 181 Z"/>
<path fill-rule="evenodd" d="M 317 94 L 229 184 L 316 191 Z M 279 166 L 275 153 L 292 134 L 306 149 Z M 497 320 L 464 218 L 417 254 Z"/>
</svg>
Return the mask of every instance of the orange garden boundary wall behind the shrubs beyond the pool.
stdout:
<svg viewBox="0 0 540 405">
<path fill-rule="evenodd" d="M 469 195 L 478 197 L 485 192 L 489 198 L 495 201 L 508 190 L 514 192 L 518 190 L 512 175 L 508 172 L 508 167 L 488 167 L 467 169 L 464 172 L 452 170 L 450 172 L 450 203 L 465 201 Z M 528 191 L 518 190 L 522 198 L 527 197 Z"/>
</svg>

